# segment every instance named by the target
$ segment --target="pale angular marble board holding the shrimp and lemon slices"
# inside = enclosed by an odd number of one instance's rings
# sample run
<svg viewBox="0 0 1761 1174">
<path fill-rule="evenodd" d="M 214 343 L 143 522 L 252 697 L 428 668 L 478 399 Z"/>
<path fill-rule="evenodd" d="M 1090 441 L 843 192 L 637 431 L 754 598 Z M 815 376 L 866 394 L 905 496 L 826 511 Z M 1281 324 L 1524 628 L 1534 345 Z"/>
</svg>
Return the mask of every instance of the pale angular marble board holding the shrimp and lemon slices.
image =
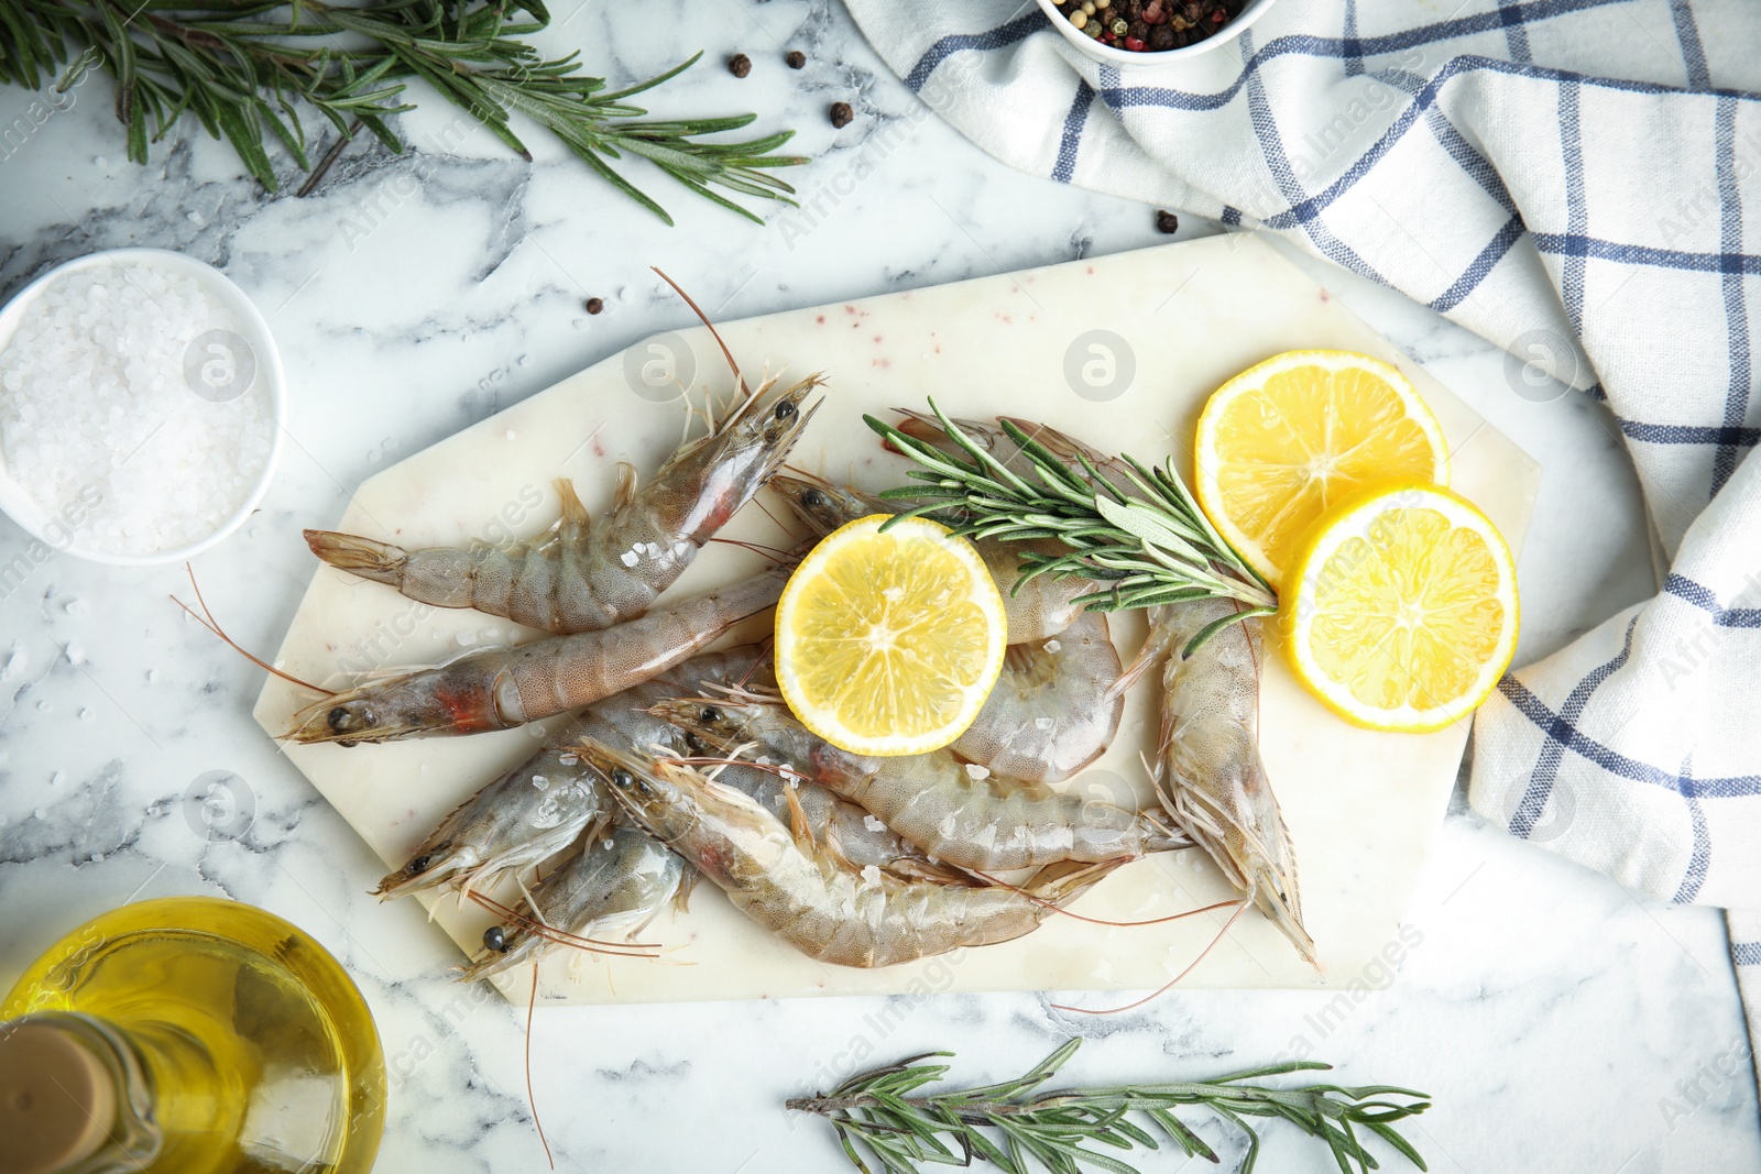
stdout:
<svg viewBox="0 0 1761 1174">
<path fill-rule="evenodd" d="M 1404 352 L 1333 301 L 1266 241 L 1233 234 L 1166 245 L 775 313 L 718 327 L 748 377 L 761 370 L 824 371 L 824 407 L 792 463 L 870 489 L 898 484 L 905 463 L 882 452 L 861 414 L 921 407 L 933 394 L 956 415 L 1009 412 L 1043 419 L 1106 451 L 1189 463 L 1205 398 L 1226 378 L 1280 350 L 1333 347 L 1382 357 L 1425 394 L 1449 438 L 1453 486 L 1479 503 L 1513 549 L 1539 484 L 1539 466 Z M 726 398 L 734 382 L 701 327 L 630 347 L 548 391 L 368 479 L 340 519 L 312 525 L 409 546 L 535 535 L 556 516 L 553 477 L 572 477 L 588 509 L 611 502 L 613 466 L 655 468 L 687 424 L 685 396 Z M 759 498 L 764 503 L 764 496 Z M 778 509 L 771 514 L 782 516 Z M 726 537 L 778 544 L 787 532 L 748 507 Z M 743 577 L 761 560 L 711 546 L 666 598 Z M 731 639 L 763 635 L 768 618 Z M 349 672 L 433 664 L 467 648 L 537 634 L 474 611 L 433 609 L 387 586 L 319 567 L 276 657 L 284 671 L 336 686 Z M 1113 618 L 1127 658 L 1143 639 L 1136 616 Z M 1268 648 L 1271 642 L 1268 641 Z M 1153 690 L 1129 699 L 1109 752 L 1064 783 L 1115 803 L 1143 804 L 1139 753 L 1155 729 Z M 269 678 L 255 706 L 273 736 L 312 697 Z M 528 757 L 558 720 L 477 737 L 380 746 L 289 745 L 287 757 L 386 861 L 403 864 L 461 799 Z M 1374 980 L 1418 866 L 1437 833 L 1467 739 L 1467 722 L 1426 736 L 1354 729 L 1303 693 L 1277 655 L 1263 681 L 1263 755 L 1301 869 L 1305 919 L 1319 968 L 1257 912 L 1249 912 L 1185 977 L 1196 987 L 1347 987 Z M 512 901 L 516 894 L 497 894 Z M 1199 852 L 1122 868 L 1076 912 L 1146 921 L 1222 901 L 1222 877 Z M 477 949 L 490 915 L 451 898 L 424 898 L 433 921 Z M 921 991 L 1152 989 L 1205 950 L 1226 919 L 1203 914 L 1160 926 L 1108 928 L 1051 917 L 1002 945 L 884 970 L 812 961 L 699 885 L 689 912 L 643 931 L 667 947 L 660 961 L 562 950 L 539 965 L 539 1002 L 613 1003 L 787 998 Z M 530 968 L 497 980 L 511 1000 L 532 991 Z M 1109 1007 L 1120 996 L 1078 1000 Z"/>
</svg>

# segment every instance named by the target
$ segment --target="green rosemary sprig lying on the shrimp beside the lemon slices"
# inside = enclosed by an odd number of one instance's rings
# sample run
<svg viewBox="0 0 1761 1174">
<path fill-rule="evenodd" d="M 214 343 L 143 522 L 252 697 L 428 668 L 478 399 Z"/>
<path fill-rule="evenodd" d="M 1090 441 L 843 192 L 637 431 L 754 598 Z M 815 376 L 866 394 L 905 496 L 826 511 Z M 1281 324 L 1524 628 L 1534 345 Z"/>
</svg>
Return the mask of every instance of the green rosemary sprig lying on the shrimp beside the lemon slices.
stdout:
<svg viewBox="0 0 1761 1174">
<path fill-rule="evenodd" d="M 1027 542 L 1058 539 L 1064 554 L 1025 553 L 1014 590 L 1035 576 L 1079 576 L 1106 584 L 1078 602 L 1092 611 L 1127 611 L 1196 598 L 1229 598 L 1243 609 L 1206 627 L 1185 648 L 1190 655 L 1220 628 L 1277 611 L 1278 597 L 1234 553 L 1199 509 L 1173 459 L 1145 466 L 1122 456 L 1102 473 L 1085 452 L 1060 458 L 1009 421 L 1004 431 L 1030 470 L 1016 473 L 974 442 L 930 400 L 947 438 L 967 456 L 907 437 L 891 424 L 863 421 L 923 468 L 921 484 L 888 489 L 882 498 L 925 502 L 900 517 L 930 516 L 963 537 Z M 1079 468 L 1072 468 L 1071 461 Z M 1127 491 L 1129 489 L 1129 491 Z M 891 523 L 889 523 L 891 525 Z"/>
</svg>

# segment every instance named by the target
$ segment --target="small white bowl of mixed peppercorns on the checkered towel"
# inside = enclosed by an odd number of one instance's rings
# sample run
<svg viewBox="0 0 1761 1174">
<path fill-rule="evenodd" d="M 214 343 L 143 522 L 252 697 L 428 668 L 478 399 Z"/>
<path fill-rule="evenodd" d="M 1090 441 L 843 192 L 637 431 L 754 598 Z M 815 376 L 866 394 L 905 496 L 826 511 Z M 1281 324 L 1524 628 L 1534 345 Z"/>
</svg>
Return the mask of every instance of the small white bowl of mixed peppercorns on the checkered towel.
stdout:
<svg viewBox="0 0 1761 1174">
<path fill-rule="evenodd" d="M 1097 62 L 1150 65 L 1233 40 L 1271 0 L 1039 0 L 1039 7 Z"/>
</svg>

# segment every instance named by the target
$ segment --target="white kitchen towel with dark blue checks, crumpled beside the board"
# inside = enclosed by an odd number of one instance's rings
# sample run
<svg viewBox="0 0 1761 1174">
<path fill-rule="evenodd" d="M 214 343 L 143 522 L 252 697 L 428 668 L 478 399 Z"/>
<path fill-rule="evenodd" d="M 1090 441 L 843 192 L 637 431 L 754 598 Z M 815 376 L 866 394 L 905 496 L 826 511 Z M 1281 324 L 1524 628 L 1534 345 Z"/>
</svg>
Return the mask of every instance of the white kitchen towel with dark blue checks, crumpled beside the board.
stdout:
<svg viewBox="0 0 1761 1174">
<path fill-rule="evenodd" d="M 1761 1038 L 1761 0 L 1275 0 L 1129 72 L 1021 0 L 849 7 L 1004 162 L 1278 232 L 1608 403 L 1659 595 L 1506 676 L 1470 799 L 1731 910 Z"/>
</svg>

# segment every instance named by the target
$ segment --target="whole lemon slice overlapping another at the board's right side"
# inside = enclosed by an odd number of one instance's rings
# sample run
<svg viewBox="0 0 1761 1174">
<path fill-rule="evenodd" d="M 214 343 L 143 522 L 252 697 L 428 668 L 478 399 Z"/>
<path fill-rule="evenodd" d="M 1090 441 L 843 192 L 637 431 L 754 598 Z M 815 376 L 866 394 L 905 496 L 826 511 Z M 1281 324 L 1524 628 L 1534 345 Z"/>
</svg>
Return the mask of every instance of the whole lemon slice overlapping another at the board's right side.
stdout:
<svg viewBox="0 0 1761 1174">
<path fill-rule="evenodd" d="M 1370 489 L 1324 516 L 1286 576 L 1296 678 L 1379 730 L 1442 729 L 1516 651 L 1516 563 L 1492 521 L 1437 486 Z"/>
</svg>

